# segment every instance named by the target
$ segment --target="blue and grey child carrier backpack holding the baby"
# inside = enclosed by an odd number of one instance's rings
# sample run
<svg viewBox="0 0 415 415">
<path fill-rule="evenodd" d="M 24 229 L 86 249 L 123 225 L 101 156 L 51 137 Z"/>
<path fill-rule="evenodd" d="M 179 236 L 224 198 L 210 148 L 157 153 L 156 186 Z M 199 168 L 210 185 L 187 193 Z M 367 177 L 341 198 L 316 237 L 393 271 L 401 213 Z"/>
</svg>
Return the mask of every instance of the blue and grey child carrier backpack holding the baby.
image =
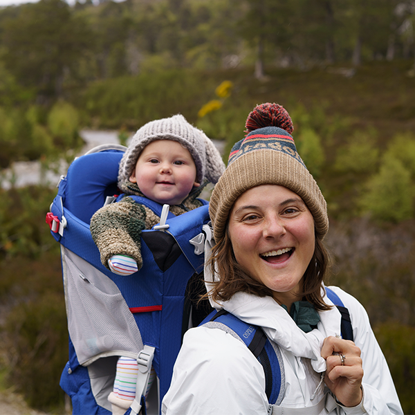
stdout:
<svg viewBox="0 0 415 415">
<path fill-rule="evenodd" d="M 200 274 L 208 202 L 180 216 L 169 213 L 158 230 L 142 231 L 138 273 L 120 276 L 102 266 L 89 222 L 118 193 L 124 149 L 103 145 L 76 158 L 46 215 L 62 253 L 69 360 L 60 385 L 71 397 L 73 414 L 111 414 L 107 397 L 119 356 L 137 359 L 139 367 L 136 400 L 126 413 L 159 414 L 184 332 L 212 311 L 208 304 L 195 306 L 205 290 Z M 163 222 L 163 207 L 151 201 L 147 206 Z M 157 378 L 146 405 L 151 366 Z"/>
</svg>

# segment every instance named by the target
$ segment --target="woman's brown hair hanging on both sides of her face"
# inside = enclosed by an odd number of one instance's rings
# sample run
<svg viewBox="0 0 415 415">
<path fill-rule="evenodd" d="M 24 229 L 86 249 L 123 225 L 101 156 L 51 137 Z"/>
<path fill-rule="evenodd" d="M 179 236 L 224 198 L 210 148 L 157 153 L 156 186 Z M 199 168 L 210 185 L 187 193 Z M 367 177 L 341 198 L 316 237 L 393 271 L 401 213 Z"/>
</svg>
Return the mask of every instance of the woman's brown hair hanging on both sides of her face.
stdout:
<svg viewBox="0 0 415 415">
<path fill-rule="evenodd" d="M 210 264 L 212 275 L 219 275 L 219 281 L 214 281 L 212 290 L 208 293 L 212 299 L 227 301 L 232 295 L 244 292 L 259 297 L 273 296 L 273 291 L 261 282 L 253 279 L 247 271 L 237 263 L 230 241 L 228 226 L 221 240 L 212 248 Z M 329 252 L 319 238 L 315 238 L 315 248 L 310 264 L 304 273 L 303 292 L 299 293 L 319 311 L 329 310 L 321 294 L 322 281 L 331 266 Z"/>
</svg>

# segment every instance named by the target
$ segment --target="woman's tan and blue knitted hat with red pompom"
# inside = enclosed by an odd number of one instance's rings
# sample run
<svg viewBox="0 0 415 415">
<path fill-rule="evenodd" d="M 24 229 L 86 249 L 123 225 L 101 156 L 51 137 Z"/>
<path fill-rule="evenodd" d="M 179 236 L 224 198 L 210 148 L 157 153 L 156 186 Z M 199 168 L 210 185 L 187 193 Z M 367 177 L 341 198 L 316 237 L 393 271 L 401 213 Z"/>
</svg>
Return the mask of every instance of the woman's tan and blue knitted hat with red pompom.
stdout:
<svg viewBox="0 0 415 415">
<path fill-rule="evenodd" d="M 228 167 L 210 198 L 215 241 L 223 237 L 238 197 L 260 185 L 281 185 L 298 194 L 313 215 L 317 238 L 323 239 L 329 230 L 326 201 L 297 153 L 288 112 L 278 104 L 258 105 L 249 114 L 246 129 L 246 138 L 230 151 Z"/>
</svg>

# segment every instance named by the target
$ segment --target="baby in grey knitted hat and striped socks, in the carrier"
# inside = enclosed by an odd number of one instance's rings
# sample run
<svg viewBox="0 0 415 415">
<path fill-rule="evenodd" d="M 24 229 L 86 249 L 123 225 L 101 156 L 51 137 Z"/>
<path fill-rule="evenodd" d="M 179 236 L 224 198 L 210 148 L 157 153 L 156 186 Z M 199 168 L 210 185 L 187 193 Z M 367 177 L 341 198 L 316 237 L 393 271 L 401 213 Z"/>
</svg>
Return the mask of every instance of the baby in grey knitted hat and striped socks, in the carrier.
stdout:
<svg viewBox="0 0 415 415">
<path fill-rule="evenodd" d="M 138 129 L 120 162 L 118 187 L 126 196 L 98 210 L 91 218 L 91 234 L 104 266 L 118 275 L 142 267 L 141 231 L 160 222 L 151 209 L 129 195 L 170 205 L 176 216 L 199 208 L 203 187 L 216 184 L 225 169 L 212 141 L 181 115 L 148 122 Z M 124 414 L 136 396 L 138 365 L 120 357 L 109 395 L 113 414 Z M 149 386 L 154 379 L 151 369 Z M 147 391 L 149 389 L 147 387 Z"/>
</svg>

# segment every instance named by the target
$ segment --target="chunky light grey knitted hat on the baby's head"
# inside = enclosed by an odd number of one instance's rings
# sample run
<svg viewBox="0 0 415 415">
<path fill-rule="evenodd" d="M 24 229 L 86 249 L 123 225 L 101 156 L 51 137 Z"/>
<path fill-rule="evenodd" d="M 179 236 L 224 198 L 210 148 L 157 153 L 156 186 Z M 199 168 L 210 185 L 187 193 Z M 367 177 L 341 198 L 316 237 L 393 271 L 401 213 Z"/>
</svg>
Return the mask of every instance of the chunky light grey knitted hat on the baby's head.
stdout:
<svg viewBox="0 0 415 415">
<path fill-rule="evenodd" d="M 147 122 L 138 129 L 120 162 L 118 170 L 120 190 L 128 192 L 124 183 L 129 180 L 136 167 L 142 149 L 154 140 L 177 141 L 189 150 L 196 165 L 197 183 L 202 183 L 203 179 L 207 178 L 208 181 L 216 184 L 225 170 L 221 154 L 208 136 L 189 124 L 181 114 L 177 114 L 170 118 Z"/>
</svg>

